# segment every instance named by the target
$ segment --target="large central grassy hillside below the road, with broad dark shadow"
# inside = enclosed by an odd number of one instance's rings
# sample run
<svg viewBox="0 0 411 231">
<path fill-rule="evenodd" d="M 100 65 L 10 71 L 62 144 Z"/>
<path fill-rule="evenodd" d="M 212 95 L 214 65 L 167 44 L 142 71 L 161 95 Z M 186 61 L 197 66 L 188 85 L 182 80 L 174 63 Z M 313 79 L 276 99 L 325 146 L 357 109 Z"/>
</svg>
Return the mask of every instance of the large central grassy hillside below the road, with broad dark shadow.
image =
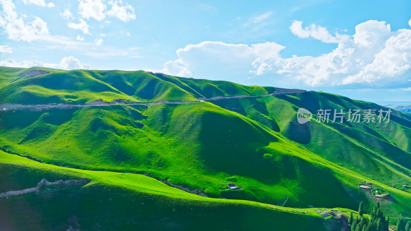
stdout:
<svg viewBox="0 0 411 231">
<path fill-rule="evenodd" d="M 372 203 L 357 188 L 370 179 L 207 102 L 6 110 L 0 118 L 0 146 L 55 165 L 145 172 L 210 197 L 290 207 Z M 242 189 L 228 189 L 233 181 Z M 393 196 L 387 207 L 398 216 L 411 195 Z"/>
</svg>

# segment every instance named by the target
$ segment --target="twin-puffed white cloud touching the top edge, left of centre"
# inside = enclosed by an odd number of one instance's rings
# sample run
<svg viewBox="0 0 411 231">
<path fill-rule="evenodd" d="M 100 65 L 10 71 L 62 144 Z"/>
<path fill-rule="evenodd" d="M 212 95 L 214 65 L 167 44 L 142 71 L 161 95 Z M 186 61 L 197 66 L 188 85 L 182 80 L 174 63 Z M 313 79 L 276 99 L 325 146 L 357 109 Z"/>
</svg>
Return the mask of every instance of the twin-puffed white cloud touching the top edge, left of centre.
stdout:
<svg viewBox="0 0 411 231">
<path fill-rule="evenodd" d="M 79 14 L 83 18 L 94 18 L 95 20 L 102 21 L 106 16 L 117 17 L 123 22 L 129 20 L 135 20 L 136 14 L 134 7 L 128 3 L 119 1 L 109 1 L 111 9 L 107 11 L 107 6 L 102 0 L 79 0 Z"/>
</svg>

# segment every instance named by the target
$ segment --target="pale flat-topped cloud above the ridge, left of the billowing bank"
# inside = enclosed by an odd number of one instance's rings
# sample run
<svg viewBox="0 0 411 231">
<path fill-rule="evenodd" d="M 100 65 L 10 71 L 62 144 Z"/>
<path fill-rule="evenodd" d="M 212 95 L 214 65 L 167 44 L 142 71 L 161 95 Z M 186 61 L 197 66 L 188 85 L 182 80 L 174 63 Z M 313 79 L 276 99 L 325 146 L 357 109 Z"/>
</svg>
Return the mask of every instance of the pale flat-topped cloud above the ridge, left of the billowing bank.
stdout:
<svg viewBox="0 0 411 231">
<path fill-rule="evenodd" d="M 178 49 L 179 59 L 166 62 L 162 71 L 186 77 L 191 77 L 195 71 L 203 78 L 217 79 L 220 76 L 226 76 L 227 80 L 235 80 L 238 76 L 233 76 L 233 73 L 247 73 L 252 68 L 252 62 L 258 57 L 275 59 L 283 48 L 276 43 L 248 46 L 202 42 Z M 214 67 L 218 68 L 218 72 L 213 69 Z"/>
</svg>

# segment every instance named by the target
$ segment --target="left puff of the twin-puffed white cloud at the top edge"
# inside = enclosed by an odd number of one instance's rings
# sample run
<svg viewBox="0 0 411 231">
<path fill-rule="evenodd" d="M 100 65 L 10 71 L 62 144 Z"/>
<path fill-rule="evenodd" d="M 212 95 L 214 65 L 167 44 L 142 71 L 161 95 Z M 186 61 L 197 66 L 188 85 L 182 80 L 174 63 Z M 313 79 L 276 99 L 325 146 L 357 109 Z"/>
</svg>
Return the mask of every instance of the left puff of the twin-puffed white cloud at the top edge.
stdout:
<svg viewBox="0 0 411 231">
<path fill-rule="evenodd" d="M 106 17 L 106 9 L 101 0 L 79 0 L 79 14 L 83 18 L 102 21 Z"/>
</svg>

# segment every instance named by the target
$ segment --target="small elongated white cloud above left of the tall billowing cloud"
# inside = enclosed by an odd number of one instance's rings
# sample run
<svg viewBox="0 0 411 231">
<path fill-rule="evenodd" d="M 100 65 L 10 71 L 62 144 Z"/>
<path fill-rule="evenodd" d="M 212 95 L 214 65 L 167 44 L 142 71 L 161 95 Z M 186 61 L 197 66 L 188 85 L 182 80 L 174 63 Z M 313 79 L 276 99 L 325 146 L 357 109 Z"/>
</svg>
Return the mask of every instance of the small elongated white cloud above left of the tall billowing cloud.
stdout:
<svg viewBox="0 0 411 231">
<path fill-rule="evenodd" d="M 350 36 L 346 34 L 335 33 L 335 36 L 331 35 L 327 28 L 311 24 L 309 27 L 303 28 L 303 22 L 293 21 L 290 26 L 290 30 L 293 34 L 301 38 L 312 37 L 316 40 L 320 40 L 323 43 L 341 43 L 349 40 Z"/>
</svg>

